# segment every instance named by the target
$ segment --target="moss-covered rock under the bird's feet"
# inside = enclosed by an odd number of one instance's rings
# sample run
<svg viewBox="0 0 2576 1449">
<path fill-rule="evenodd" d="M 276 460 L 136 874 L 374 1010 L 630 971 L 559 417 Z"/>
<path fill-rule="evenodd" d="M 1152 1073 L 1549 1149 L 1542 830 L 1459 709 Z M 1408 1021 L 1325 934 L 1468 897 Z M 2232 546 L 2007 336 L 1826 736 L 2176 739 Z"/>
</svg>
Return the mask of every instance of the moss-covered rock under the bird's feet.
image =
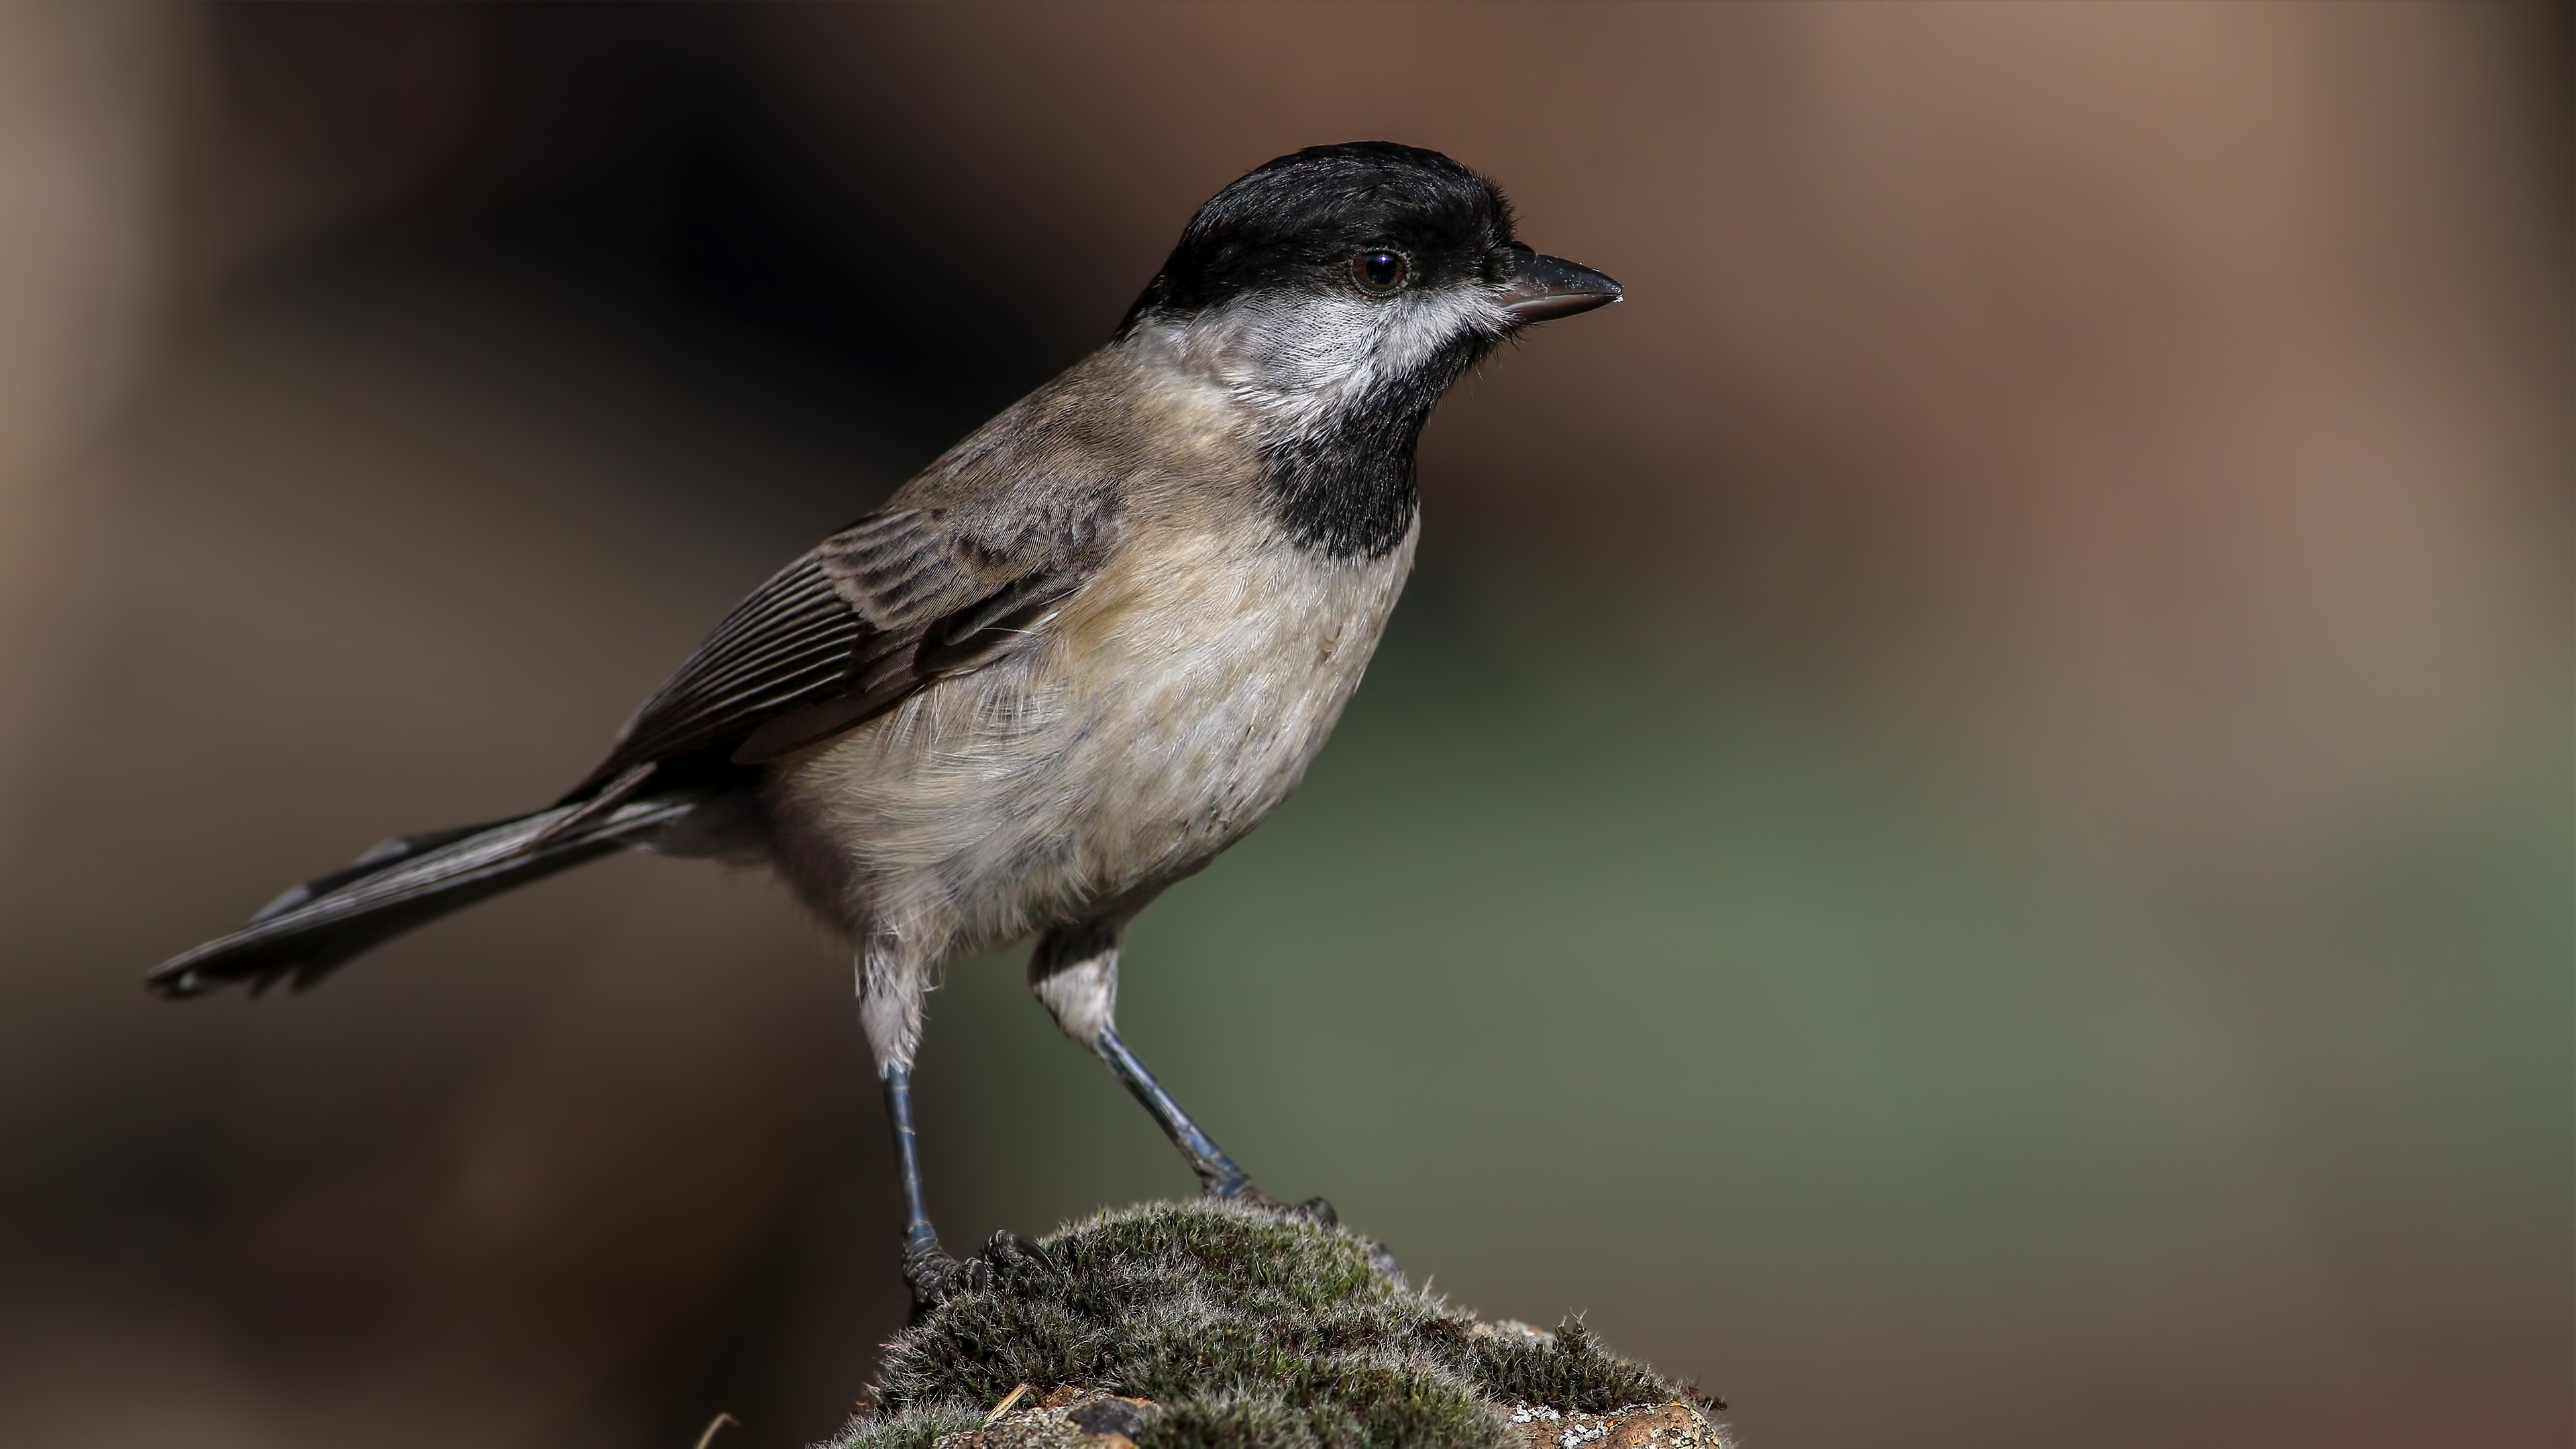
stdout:
<svg viewBox="0 0 2576 1449">
<path fill-rule="evenodd" d="M 1582 1323 L 1481 1323 L 1381 1274 L 1365 1238 L 1303 1217 L 1149 1204 L 1043 1245 L 1061 1271 L 1005 1263 L 894 1338 L 878 1410 L 829 1449 L 963 1441 L 1023 1385 L 1151 1400 L 1139 1449 L 1507 1449 L 1528 1439 L 1522 1405 L 1690 1400 Z"/>
</svg>

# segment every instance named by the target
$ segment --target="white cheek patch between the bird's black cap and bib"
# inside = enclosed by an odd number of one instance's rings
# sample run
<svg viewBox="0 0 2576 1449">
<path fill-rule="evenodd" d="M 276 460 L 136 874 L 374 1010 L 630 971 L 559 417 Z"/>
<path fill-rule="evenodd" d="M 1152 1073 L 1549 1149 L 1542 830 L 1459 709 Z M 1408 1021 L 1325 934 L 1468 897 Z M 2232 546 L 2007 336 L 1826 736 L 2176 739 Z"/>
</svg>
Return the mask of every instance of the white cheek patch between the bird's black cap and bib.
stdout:
<svg viewBox="0 0 2576 1449">
<path fill-rule="evenodd" d="M 1461 338 L 1510 320 L 1481 286 L 1368 297 L 1244 297 L 1188 327 L 1185 353 L 1239 402 L 1309 433 L 1368 402 Z"/>
</svg>

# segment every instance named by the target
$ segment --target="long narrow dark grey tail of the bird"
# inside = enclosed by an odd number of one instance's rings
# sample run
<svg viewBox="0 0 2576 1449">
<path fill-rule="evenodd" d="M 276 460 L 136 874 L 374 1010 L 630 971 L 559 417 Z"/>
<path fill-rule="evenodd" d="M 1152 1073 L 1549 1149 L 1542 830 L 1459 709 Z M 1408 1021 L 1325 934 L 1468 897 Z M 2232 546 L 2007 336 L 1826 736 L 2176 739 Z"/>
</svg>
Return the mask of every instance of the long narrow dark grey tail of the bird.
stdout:
<svg viewBox="0 0 2576 1449">
<path fill-rule="evenodd" d="M 162 962 L 144 985 L 162 995 L 201 995 L 250 982 L 260 993 L 283 977 L 304 990 L 415 926 L 621 851 L 688 815 L 690 804 L 685 797 L 631 799 L 580 820 L 574 812 L 582 804 L 556 804 L 518 820 L 386 841 L 355 864 L 289 890 L 232 936 Z"/>
</svg>

